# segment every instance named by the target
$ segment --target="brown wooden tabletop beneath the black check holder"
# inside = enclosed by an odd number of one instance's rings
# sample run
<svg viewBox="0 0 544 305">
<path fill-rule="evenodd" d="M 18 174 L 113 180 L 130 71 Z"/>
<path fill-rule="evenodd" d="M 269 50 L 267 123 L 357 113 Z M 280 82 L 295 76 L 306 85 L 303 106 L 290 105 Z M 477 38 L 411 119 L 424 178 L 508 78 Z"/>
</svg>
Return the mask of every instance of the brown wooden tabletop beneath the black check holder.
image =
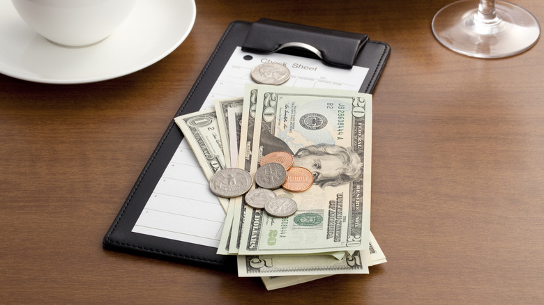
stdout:
<svg viewBox="0 0 544 305">
<path fill-rule="evenodd" d="M 475 5 L 476 5 L 475 1 Z M 0 75 L 2 304 L 544 304 L 544 44 L 500 60 L 432 36 L 449 0 L 197 1 L 190 36 L 126 77 Z M 517 0 L 544 21 L 544 2 Z M 102 238 L 229 22 L 391 45 L 374 95 L 372 232 L 388 263 L 267 292 Z"/>
</svg>

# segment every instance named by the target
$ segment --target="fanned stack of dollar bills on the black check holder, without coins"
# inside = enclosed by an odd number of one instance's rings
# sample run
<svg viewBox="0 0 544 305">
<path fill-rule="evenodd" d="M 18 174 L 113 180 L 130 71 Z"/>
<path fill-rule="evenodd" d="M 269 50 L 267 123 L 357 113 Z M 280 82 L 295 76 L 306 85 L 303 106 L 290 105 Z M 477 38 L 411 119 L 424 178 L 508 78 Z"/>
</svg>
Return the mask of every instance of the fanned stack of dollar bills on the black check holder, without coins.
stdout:
<svg viewBox="0 0 544 305">
<path fill-rule="evenodd" d="M 271 290 L 386 262 L 370 233 L 372 95 L 247 84 L 243 97 L 175 120 L 208 179 L 230 167 L 255 176 L 275 151 L 314 175 L 306 191 L 274 190 L 296 201 L 289 217 L 244 196 L 219 198 L 227 217 L 218 254 L 238 256 L 239 276 L 260 276 Z"/>
</svg>

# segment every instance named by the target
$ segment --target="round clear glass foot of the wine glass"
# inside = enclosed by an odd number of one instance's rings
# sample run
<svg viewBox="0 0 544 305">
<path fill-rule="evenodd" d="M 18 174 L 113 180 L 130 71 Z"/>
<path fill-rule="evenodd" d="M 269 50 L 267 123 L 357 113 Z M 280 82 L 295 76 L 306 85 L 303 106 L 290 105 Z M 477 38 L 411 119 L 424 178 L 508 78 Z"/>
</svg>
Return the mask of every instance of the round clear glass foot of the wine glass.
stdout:
<svg viewBox="0 0 544 305">
<path fill-rule="evenodd" d="M 534 15 L 515 4 L 496 1 L 497 22 L 474 18 L 474 0 L 444 6 L 432 19 L 432 33 L 442 45 L 478 58 L 502 58 L 527 51 L 536 44 L 541 28 Z"/>
</svg>

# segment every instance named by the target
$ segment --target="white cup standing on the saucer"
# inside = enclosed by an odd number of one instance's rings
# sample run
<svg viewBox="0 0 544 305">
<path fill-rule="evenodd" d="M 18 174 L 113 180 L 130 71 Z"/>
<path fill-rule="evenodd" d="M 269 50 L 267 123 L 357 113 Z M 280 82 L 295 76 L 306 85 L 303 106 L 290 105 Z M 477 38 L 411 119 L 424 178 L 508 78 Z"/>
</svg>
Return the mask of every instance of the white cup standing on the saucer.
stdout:
<svg viewBox="0 0 544 305">
<path fill-rule="evenodd" d="M 107 38 L 136 0 L 12 0 L 17 13 L 41 36 L 69 47 Z"/>
</svg>

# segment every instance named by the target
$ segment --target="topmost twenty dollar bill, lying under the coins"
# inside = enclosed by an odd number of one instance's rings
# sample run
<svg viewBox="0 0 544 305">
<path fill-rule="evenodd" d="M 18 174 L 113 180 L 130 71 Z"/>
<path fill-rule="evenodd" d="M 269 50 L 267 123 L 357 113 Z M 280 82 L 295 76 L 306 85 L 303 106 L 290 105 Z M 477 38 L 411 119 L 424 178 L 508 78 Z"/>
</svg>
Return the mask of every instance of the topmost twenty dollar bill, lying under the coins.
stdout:
<svg viewBox="0 0 544 305">
<path fill-rule="evenodd" d="M 242 223 L 239 254 L 368 251 L 372 95 L 246 85 L 244 107 L 248 100 L 255 104 L 252 146 L 250 153 L 241 146 L 239 155 L 248 156 L 250 172 L 262 156 L 282 150 L 294 155 L 294 166 L 312 171 L 314 184 L 278 194 L 296 201 L 291 217 L 238 206 L 245 210 L 233 219 Z"/>
</svg>

